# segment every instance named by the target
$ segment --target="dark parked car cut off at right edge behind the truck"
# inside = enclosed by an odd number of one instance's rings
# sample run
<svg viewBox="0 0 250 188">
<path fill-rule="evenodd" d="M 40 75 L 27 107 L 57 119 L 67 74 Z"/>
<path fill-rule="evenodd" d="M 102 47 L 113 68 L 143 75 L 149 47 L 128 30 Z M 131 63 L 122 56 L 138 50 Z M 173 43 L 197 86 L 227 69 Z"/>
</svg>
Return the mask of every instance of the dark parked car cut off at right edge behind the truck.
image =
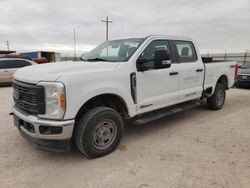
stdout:
<svg viewBox="0 0 250 188">
<path fill-rule="evenodd" d="M 250 62 L 246 62 L 239 66 L 238 78 L 236 86 L 250 86 Z"/>
</svg>

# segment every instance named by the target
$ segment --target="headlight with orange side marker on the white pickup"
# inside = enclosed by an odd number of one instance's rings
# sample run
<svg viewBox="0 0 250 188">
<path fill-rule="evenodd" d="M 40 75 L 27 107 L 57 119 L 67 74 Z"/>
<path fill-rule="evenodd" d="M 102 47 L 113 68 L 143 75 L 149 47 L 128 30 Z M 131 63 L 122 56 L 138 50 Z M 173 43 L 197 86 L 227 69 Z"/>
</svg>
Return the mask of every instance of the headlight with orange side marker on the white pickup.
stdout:
<svg viewBox="0 0 250 188">
<path fill-rule="evenodd" d="M 46 112 L 40 118 L 62 119 L 66 111 L 65 87 L 61 82 L 39 82 L 45 88 Z"/>
</svg>

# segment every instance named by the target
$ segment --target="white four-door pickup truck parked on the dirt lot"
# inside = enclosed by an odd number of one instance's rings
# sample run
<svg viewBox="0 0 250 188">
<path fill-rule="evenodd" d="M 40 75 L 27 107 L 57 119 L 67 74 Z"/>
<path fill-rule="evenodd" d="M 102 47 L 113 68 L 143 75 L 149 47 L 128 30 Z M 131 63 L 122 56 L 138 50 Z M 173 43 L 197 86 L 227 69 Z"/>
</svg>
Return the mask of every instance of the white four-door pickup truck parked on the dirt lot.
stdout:
<svg viewBox="0 0 250 188">
<path fill-rule="evenodd" d="M 119 144 L 124 120 L 145 122 L 206 100 L 223 107 L 236 62 L 204 63 L 193 40 L 149 36 L 106 41 L 80 61 L 35 65 L 13 79 L 14 124 L 36 147 L 88 158 Z"/>
</svg>

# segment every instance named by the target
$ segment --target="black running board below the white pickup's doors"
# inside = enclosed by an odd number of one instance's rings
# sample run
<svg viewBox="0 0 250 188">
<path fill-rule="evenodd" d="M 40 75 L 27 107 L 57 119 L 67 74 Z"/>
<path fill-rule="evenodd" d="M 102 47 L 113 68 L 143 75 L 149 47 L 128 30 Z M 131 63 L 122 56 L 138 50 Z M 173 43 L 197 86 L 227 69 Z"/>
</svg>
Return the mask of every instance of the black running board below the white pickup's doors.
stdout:
<svg viewBox="0 0 250 188">
<path fill-rule="evenodd" d="M 149 123 L 158 119 L 161 119 L 163 117 L 176 114 L 188 109 L 195 108 L 197 106 L 200 106 L 201 103 L 200 101 L 190 101 L 190 102 L 185 102 L 181 104 L 177 104 L 174 106 L 170 106 L 167 108 L 163 108 L 161 110 L 145 113 L 143 115 L 139 115 L 135 118 L 134 124 L 136 125 L 141 125 L 145 123 Z"/>
</svg>

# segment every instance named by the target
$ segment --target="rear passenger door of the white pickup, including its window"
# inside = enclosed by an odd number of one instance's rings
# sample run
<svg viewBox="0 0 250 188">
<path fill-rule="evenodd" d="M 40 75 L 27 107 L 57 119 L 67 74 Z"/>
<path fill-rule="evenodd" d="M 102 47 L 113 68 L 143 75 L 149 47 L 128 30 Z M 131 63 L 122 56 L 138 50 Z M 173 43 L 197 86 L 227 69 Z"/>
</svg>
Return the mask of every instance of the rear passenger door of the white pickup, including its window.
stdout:
<svg viewBox="0 0 250 188">
<path fill-rule="evenodd" d="M 178 101 L 185 102 L 201 97 L 203 91 L 204 64 L 198 58 L 191 41 L 172 42 L 177 62 L 180 65 Z"/>
</svg>

